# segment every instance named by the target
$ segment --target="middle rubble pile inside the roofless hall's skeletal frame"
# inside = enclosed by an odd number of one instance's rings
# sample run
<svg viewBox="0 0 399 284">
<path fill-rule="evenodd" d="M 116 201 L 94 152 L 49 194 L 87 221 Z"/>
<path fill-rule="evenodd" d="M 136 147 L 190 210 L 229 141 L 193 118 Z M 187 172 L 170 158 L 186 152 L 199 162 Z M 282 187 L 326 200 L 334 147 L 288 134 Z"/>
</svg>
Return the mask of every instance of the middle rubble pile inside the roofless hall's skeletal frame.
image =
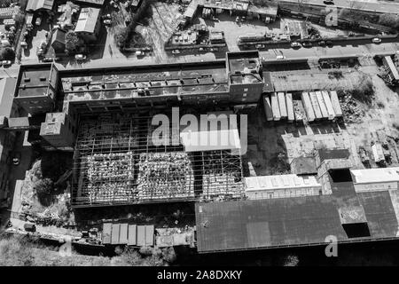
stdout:
<svg viewBox="0 0 399 284">
<path fill-rule="evenodd" d="M 140 154 L 138 199 L 194 197 L 194 176 L 189 156 L 183 152 Z"/>
</svg>

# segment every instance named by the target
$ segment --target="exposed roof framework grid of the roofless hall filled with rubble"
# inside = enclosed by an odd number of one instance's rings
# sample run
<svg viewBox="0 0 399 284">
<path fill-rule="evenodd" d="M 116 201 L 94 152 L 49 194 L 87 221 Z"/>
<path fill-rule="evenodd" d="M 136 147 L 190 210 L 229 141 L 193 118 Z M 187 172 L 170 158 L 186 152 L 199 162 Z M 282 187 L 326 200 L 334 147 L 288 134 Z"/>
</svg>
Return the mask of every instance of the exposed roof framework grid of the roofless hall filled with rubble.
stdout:
<svg viewBox="0 0 399 284">
<path fill-rule="evenodd" d="M 153 143 L 152 117 L 81 117 L 74 152 L 75 207 L 244 197 L 239 154 L 184 152 L 181 143 Z M 169 126 L 175 138 L 178 126 Z M 172 141 L 172 140 L 169 140 Z"/>
</svg>

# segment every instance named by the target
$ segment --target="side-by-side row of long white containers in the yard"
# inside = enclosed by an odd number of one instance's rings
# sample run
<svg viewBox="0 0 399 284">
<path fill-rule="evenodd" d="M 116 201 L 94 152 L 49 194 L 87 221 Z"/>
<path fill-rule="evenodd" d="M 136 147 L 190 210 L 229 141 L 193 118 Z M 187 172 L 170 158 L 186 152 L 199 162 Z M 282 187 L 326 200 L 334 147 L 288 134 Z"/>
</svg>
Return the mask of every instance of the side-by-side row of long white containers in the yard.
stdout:
<svg viewBox="0 0 399 284">
<path fill-rule="evenodd" d="M 267 121 L 288 120 L 288 122 L 301 121 L 301 108 L 308 121 L 319 119 L 333 120 L 342 116 L 340 101 L 336 91 L 310 91 L 302 92 L 301 107 L 293 101 L 292 93 L 274 92 L 263 97 L 263 106 Z"/>
</svg>

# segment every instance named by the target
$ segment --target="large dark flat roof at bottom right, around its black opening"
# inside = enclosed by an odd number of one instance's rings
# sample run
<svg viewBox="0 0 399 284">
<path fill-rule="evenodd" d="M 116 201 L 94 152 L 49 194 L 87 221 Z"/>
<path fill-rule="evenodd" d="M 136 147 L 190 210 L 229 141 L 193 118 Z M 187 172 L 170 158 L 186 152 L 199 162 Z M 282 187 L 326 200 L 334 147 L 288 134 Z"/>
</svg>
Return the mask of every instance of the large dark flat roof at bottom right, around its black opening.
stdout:
<svg viewBox="0 0 399 284">
<path fill-rule="evenodd" d="M 371 235 L 349 239 L 339 210 L 359 204 Z M 395 238 L 398 225 L 388 192 L 361 193 L 358 198 L 323 195 L 197 203 L 195 211 L 200 253 L 317 245 L 328 235 L 338 241 Z"/>
</svg>

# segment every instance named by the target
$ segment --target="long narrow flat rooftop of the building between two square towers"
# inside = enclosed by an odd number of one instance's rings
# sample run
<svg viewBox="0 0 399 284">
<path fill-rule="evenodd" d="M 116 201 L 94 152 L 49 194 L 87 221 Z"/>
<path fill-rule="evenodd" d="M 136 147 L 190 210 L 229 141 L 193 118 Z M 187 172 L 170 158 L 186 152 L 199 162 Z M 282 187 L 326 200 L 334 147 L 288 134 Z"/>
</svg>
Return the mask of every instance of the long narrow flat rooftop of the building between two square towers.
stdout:
<svg viewBox="0 0 399 284">
<path fill-rule="evenodd" d="M 110 69 L 64 71 L 61 75 L 67 101 L 134 98 L 228 91 L 223 61 Z"/>
</svg>

